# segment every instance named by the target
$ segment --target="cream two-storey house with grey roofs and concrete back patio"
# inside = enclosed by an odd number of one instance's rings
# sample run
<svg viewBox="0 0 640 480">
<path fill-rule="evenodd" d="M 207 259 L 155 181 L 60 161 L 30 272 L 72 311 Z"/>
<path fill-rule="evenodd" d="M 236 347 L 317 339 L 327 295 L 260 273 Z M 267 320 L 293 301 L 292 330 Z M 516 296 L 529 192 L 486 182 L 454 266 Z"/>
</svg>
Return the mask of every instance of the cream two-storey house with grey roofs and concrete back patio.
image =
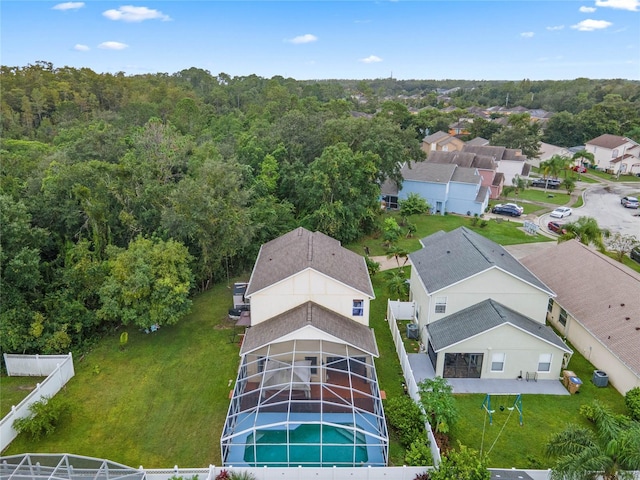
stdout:
<svg viewBox="0 0 640 480">
<path fill-rule="evenodd" d="M 409 255 L 415 323 L 444 378 L 557 379 L 572 351 L 545 324 L 554 292 L 502 246 L 465 228 Z"/>
</svg>

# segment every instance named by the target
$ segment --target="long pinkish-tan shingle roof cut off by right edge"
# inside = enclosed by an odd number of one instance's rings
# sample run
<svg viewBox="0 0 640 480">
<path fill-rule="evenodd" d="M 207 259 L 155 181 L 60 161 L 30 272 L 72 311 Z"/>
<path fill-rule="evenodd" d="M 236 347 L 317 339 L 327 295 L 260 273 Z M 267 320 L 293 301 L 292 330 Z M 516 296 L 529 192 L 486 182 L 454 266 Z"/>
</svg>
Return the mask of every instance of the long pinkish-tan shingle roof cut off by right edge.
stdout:
<svg viewBox="0 0 640 480">
<path fill-rule="evenodd" d="M 640 375 L 640 274 L 576 240 L 522 262 L 554 289 L 562 308 Z"/>
</svg>

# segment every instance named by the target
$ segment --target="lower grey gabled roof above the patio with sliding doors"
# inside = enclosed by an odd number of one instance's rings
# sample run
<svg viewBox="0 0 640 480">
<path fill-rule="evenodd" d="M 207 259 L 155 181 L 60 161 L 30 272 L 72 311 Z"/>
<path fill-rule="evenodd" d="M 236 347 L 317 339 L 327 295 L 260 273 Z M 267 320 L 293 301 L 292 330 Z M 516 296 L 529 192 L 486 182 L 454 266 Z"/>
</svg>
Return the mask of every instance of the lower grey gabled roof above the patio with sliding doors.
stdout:
<svg viewBox="0 0 640 480">
<path fill-rule="evenodd" d="M 438 352 L 502 325 L 512 325 L 565 352 L 573 353 L 552 328 L 487 299 L 427 325 L 433 349 Z"/>
</svg>

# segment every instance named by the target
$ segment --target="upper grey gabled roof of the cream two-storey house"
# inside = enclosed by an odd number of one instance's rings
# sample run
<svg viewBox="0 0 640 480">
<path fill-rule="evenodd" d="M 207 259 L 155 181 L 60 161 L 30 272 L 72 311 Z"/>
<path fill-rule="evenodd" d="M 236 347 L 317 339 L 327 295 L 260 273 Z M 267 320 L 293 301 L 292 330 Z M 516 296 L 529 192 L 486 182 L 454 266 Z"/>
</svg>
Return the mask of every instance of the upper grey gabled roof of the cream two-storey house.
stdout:
<svg viewBox="0 0 640 480">
<path fill-rule="evenodd" d="M 498 268 L 554 295 L 549 287 L 501 245 L 466 227 L 437 232 L 420 240 L 423 248 L 410 253 L 411 264 L 429 293 L 478 273 Z"/>
</svg>

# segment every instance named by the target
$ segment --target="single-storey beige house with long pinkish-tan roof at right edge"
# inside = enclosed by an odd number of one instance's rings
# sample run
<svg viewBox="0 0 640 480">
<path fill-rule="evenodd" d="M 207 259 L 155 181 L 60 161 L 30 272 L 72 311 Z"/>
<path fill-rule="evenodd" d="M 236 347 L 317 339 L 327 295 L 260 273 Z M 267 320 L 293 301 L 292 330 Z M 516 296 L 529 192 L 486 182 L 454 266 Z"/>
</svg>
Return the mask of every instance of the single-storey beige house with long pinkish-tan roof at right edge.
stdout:
<svg viewBox="0 0 640 480">
<path fill-rule="evenodd" d="M 549 323 L 622 395 L 640 387 L 640 274 L 575 240 L 522 262 L 556 292 Z"/>
</svg>

